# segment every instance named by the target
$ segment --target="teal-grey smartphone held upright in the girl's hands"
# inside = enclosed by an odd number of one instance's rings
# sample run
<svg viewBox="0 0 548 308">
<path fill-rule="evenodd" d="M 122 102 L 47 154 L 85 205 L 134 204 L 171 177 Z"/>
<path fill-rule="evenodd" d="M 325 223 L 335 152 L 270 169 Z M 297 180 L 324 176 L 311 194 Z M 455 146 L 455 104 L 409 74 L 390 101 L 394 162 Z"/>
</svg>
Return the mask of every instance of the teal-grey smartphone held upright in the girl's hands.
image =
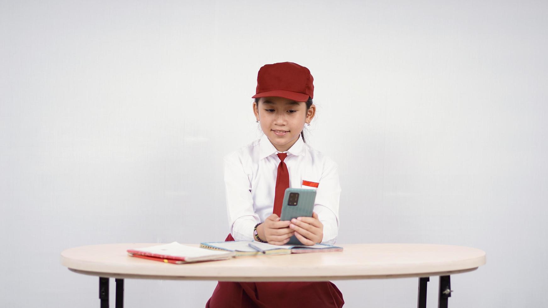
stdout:
<svg viewBox="0 0 548 308">
<path fill-rule="evenodd" d="M 279 220 L 312 217 L 316 189 L 287 188 L 283 195 L 282 213 Z M 303 245 L 295 235 L 285 245 Z"/>
</svg>

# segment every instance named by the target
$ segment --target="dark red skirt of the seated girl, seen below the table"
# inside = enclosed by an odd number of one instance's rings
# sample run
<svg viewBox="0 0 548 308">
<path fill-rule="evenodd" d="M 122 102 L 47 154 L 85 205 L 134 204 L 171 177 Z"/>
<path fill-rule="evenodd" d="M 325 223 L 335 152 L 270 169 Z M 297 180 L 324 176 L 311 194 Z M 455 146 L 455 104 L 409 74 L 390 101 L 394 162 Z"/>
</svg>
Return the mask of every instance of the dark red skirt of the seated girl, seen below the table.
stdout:
<svg viewBox="0 0 548 308">
<path fill-rule="evenodd" d="M 226 241 L 233 241 L 231 234 Z M 343 293 L 330 281 L 217 283 L 206 308 L 343 307 Z"/>
</svg>

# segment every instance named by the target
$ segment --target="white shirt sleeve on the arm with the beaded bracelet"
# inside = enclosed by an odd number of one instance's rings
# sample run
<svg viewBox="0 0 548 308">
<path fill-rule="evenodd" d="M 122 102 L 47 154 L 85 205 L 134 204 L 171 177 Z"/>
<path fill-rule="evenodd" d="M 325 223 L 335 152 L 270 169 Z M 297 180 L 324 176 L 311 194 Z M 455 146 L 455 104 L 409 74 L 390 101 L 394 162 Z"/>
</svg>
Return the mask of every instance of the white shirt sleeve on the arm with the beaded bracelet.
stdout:
<svg viewBox="0 0 548 308">
<path fill-rule="evenodd" d="M 225 156 L 224 177 L 230 234 L 236 241 L 253 241 L 260 218 L 253 210 L 251 182 L 237 152 Z"/>
</svg>

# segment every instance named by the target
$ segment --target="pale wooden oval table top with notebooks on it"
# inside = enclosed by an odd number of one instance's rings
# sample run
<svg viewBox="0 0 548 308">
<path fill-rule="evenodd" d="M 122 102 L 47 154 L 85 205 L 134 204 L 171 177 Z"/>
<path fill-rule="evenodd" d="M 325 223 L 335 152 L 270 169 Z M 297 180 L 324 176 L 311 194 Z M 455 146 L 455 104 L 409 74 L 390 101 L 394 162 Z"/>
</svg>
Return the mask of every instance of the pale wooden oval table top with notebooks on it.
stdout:
<svg viewBox="0 0 548 308">
<path fill-rule="evenodd" d="M 172 264 L 130 257 L 129 248 L 161 243 L 116 243 L 69 248 L 61 264 L 80 274 L 166 280 L 329 281 L 429 277 L 473 271 L 486 263 L 480 249 L 435 244 L 371 243 L 337 245 L 342 252 L 236 257 Z M 197 244 L 184 244 L 198 247 Z"/>
</svg>

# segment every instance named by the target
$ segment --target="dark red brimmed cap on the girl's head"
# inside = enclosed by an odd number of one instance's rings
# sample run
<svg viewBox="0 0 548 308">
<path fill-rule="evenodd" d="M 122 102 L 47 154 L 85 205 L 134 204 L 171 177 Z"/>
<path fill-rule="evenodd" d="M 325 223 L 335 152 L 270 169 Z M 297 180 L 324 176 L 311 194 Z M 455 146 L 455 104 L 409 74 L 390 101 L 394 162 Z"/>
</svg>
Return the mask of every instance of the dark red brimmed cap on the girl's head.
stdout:
<svg viewBox="0 0 548 308">
<path fill-rule="evenodd" d="M 267 64 L 257 74 L 256 94 L 252 98 L 279 96 L 298 102 L 313 98 L 314 78 L 308 68 L 293 62 Z"/>
</svg>

